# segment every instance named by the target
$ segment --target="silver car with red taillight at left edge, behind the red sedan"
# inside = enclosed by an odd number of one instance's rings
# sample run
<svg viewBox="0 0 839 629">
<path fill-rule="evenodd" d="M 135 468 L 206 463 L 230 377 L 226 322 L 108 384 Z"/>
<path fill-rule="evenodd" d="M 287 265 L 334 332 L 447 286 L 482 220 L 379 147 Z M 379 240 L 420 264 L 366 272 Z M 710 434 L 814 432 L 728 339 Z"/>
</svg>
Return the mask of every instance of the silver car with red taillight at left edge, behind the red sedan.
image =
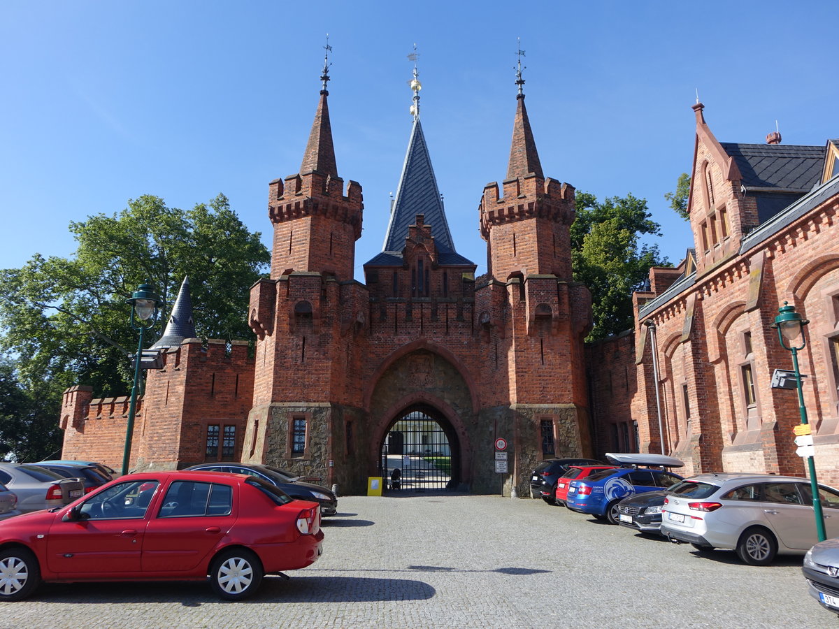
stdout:
<svg viewBox="0 0 839 629">
<path fill-rule="evenodd" d="M 79 479 L 64 478 L 29 463 L 0 463 L 0 482 L 18 496 L 22 513 L 62 507 L 85 492 Z"/>
</svg>

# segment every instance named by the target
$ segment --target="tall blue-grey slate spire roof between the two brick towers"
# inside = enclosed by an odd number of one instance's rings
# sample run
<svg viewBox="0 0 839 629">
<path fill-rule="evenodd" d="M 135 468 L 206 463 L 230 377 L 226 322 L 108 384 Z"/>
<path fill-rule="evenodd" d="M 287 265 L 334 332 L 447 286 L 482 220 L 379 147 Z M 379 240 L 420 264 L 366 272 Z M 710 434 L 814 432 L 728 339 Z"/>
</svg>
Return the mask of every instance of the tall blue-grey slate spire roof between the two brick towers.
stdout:
<svg viewBox="0 0 839 629">
<path fill-rule="evenodd" d="M 443 200 L 437 189 L 437 179 L 431 168 L 431 158 L 425 145 L 420 118 L 414 119 L 408 153 L 399 178 L 396 201 L 390 213 L 388 231 L 384 237 L 383 252 L 401 252 L 408 237 L 408 228 L 416 222 L 416 216 L 425 216 L 425 225 L 431 226 L 431 233 L 437 250 L 441 253 L 454 252 L 451 231 L 446 222 Z"/>
</svg>

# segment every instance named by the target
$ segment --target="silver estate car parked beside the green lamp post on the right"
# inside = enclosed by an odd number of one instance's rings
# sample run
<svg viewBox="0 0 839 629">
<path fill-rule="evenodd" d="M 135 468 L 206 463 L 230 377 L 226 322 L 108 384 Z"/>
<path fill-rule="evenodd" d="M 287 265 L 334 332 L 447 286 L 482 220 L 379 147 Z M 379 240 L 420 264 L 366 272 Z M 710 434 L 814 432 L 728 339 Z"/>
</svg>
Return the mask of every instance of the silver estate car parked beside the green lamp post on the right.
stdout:
<svg viewBox="0 0 839 629">
<path fill-rule="evenodd" d="M 827 537 L 839 537 L 839 491 L 819 486 Z M 747 564 L 805 554 L 818 541 L 810 481 L 771 474 L 701 474 L 668 490 L 661 533 L 697 550 L 736 550 Z"/>
</svg>

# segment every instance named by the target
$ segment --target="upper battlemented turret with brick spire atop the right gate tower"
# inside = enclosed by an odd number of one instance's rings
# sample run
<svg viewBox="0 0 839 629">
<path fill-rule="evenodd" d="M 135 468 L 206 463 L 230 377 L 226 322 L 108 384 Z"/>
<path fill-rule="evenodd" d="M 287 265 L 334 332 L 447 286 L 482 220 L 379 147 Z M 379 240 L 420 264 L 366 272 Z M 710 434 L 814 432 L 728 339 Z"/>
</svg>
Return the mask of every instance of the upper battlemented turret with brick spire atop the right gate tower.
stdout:
<svg viewBox="0 0 839 629">
<path fill-rule="evenodd" d="M 484 187 L 479 208 L 481 236 L 488 242 L 493 278 L 552 274 L 571 279 L 569 228 L 574 221 L 574 188 L 546 178 L 524 107 L 524 78 L 519 46 L 516 113 L 507 179 Z M 501 195 L 499 195 L 499 192 Z"/>
</svg>

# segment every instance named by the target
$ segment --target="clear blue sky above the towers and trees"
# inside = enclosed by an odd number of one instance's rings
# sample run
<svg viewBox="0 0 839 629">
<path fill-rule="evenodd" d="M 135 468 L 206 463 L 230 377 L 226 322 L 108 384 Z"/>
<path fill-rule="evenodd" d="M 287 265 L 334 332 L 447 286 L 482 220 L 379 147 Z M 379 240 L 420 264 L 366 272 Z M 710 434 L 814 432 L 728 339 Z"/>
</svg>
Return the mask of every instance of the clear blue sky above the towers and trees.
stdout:
<svg viewBox="0 0 839 629">
<path fill-rule="evenodd" d="M 477 205 L 507 169 L 517 38 L 547 176 L 648 200 L 678 263 L 692 237 L 664 193 L 690 169 L 696 90 L 723 142 L 839 137 L 835 2 L 0 3 L 0 268 L 68 256 L 70 221 L 158 195 L 224 193 L 269 244 L 268 181 L 300 169 L 326 34 L 338 173 L 364 190 L 356 277 L 382 248 L 421 117 L 457 251 L 486 270 Z"/>
</svg>

